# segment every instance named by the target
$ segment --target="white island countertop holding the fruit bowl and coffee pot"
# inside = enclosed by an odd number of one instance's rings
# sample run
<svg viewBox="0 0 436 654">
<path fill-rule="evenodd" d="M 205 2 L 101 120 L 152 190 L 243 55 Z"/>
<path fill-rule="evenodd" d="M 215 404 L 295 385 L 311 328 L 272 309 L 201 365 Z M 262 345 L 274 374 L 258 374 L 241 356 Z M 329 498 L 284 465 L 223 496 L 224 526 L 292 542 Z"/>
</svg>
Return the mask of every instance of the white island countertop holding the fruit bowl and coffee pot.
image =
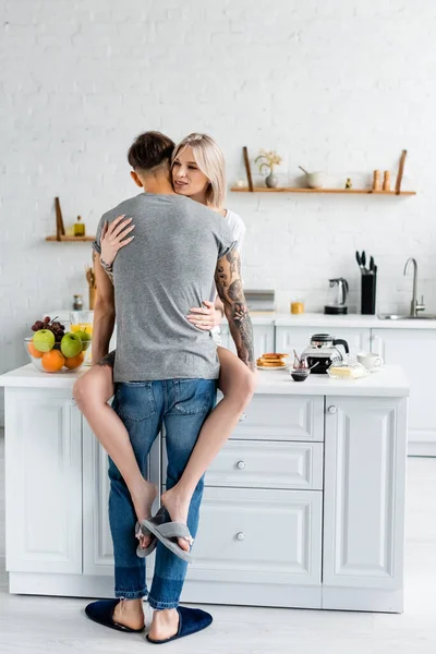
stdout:
<svg viewBox="0 0 436 654">
<path fill-rule="evenodd" d="M 32 363 L 0 376 L 0 386 L 33 388 L 72 388 L 75 379 L 89 370 L 77 373 L 40 373 Z M 364 379 L 330 379 L 328 375 L 310 375 L 305 382 L 294 382 L 286 370 L 259 371 L 256 395 L 408 397 L 409 383 L 400 366 L 387 365 Z"/>
</svg>

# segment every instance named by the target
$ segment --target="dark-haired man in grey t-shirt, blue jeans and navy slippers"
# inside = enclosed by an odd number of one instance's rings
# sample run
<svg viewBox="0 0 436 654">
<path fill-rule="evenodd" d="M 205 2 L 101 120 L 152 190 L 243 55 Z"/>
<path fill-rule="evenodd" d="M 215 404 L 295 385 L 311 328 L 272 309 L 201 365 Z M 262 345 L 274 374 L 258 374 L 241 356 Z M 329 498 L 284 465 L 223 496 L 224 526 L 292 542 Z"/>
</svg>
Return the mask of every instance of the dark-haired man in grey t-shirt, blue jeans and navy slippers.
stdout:
<svg viewBox="0 0 436 654">
<path fill-rule="evenodd" d="M 192 306 L 201 306 L 208 296 L 214 276 L 238 355 L 251 368 L 255 365 L 253 332 L 242 291 L 239 254 L 222 217 L 174 194 L 169 177 L 173 143 L 169 138 L 148 132 L 132 148 L 135 180 L 145 193 L 105 214 L 98 226 L 94 243 L 98 292 L 93 363 L 107 355 L 116 315 L 117 386 L 112 407 L 129 432 L 144 472 L 149 449 L 165 425 L 166 484 L 170 488 L 181 477 L 215 404 L 219 373 L 216 346 L 209 332 L 198 330 L 185 317 Z M 135 240 L 121 249 L 114 259 L 112 287 L 100 258 L 100 238 L 104 226 L 120 214 L 133 218 Z M 153 584 L 147 592 L 144 559 L 136 555 L 132 499 L 112 460 L 109 477 L 117 600 L 89 604 L 87 616 L 110 628 L 138 631 L 132 629 L 129 616 L 135 611 L 142 615 L 142 601 L 148 594 L 155 609 L 153 642 L 167 642 L 169 638 L 204 629 L 211 622 L 209 614 L 179 607 L 186 564 L 168 545 L 157 546 Z M 187 519 L 193 536 L 202 493 L 203 480 L 192 497 Z M 173 529 L 172 524 L 175 523 L 165 526 Z"/>
</svg>

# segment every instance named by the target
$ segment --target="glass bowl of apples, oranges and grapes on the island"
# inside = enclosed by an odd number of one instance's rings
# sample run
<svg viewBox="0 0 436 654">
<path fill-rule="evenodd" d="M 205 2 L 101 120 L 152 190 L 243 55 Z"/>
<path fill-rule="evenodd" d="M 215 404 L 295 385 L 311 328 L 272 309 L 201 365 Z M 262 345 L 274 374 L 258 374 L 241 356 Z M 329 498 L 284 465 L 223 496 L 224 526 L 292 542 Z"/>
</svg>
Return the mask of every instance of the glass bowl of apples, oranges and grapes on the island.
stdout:
<svg viewBox="0 0 436 654">
<path fill-rule="evenodd" d="M 90 342 L 81 332 L 65 332 L 65 326 L 46 316 L 32 326 L 33 336 L 24 339 L 26 352 L 43 373 L 72 373 L 82 367 Z"/>
</svg>

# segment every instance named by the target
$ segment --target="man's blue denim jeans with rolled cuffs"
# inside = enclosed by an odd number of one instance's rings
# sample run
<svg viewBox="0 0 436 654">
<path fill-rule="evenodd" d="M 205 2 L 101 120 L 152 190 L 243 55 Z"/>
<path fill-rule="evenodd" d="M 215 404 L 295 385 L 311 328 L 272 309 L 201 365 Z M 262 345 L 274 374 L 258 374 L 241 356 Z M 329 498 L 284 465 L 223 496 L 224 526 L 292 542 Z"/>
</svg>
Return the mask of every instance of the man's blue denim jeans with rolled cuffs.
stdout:
<svg viewBox="0 0 436 654">
<path fill-rule="evenodd" d="M 117 385 L 112 408 L 129 432 L 136 461 L 144 476 L 148 452 L 165 425 L 168 455 L 167 488 L 177 484 L 215 401 L 216 379 L 125 382 Z M 111 459 L 109 479 L 109 522 L 116 562 L 116 597 L 136 600 L 148 594 L 148 602 L 153 608 L 175 608 L 187 565 L 158 543 L 155 573 L 148 593 L 145 560 L 136 556 L 135 511 L 124 480 Z M 203 485 L 202 477 L 190 506 L 187 526 L 193 537 L 198 528 Z"/>
</svg>

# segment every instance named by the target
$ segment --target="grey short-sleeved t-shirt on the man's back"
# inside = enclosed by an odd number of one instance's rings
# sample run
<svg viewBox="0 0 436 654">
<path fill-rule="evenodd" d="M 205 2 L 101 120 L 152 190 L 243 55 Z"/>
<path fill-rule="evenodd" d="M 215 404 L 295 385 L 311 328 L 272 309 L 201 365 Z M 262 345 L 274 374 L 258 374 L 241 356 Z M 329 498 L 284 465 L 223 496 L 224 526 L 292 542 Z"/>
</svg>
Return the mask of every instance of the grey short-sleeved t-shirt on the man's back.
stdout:
<svg viewBox="0 0 436 654">
<path fill-rule="evenodd" d="M 135 238 L 113 262 L 114 382 L 216 379 L 214 339 L 186 315 L 208 298 L 217 261 L 235 246 L 230 229 L 187 197 L 141 193 L 101 217 L 98 253 L 102 226 L 122 214 L 133 218 Z"/>
</svg>

